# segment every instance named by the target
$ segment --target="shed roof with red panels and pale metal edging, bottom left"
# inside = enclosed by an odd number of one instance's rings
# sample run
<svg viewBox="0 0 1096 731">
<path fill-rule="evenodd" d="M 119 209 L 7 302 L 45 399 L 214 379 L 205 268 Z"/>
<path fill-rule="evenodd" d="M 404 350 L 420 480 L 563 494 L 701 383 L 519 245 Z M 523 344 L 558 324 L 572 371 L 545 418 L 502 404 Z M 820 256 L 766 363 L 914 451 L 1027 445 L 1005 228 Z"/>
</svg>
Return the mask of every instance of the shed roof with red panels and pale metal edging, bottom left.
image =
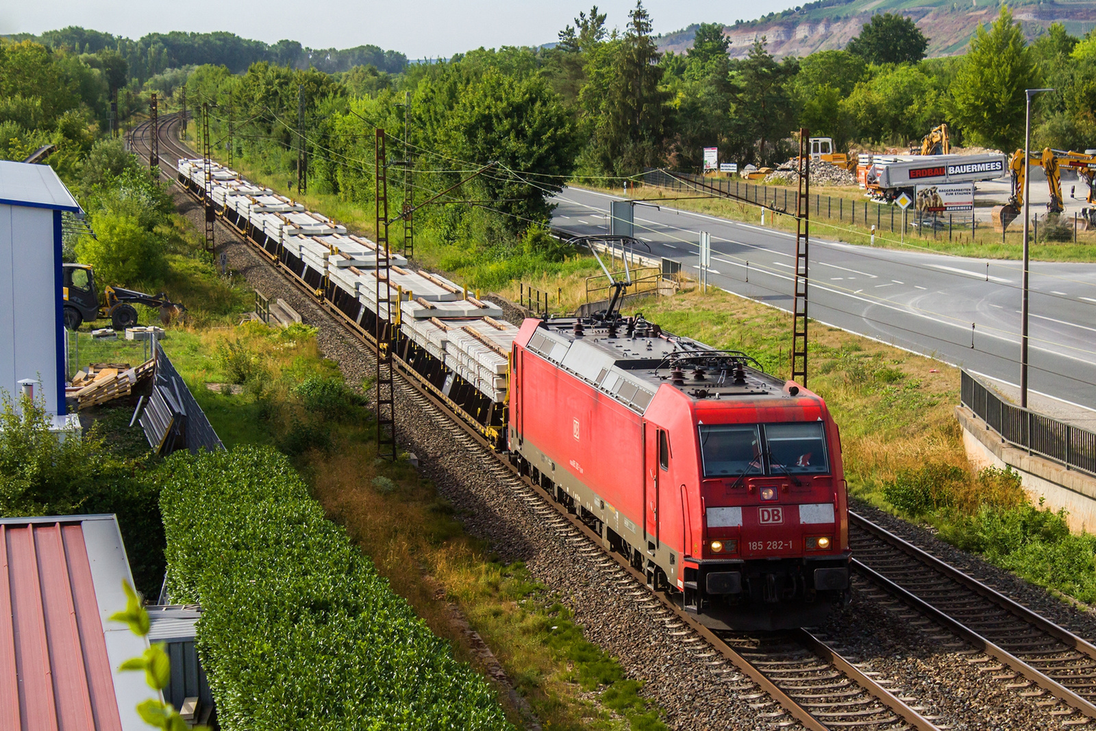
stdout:
<svg viewBox="0 0 1096 731">
<path fill-rule="evenodd" d="M 113 515 L 0 519 L 0 729 L 146 731 L 160 693 L 118 665 L 146 638 L 109 617 L 133 584 Z"/>
</svg>

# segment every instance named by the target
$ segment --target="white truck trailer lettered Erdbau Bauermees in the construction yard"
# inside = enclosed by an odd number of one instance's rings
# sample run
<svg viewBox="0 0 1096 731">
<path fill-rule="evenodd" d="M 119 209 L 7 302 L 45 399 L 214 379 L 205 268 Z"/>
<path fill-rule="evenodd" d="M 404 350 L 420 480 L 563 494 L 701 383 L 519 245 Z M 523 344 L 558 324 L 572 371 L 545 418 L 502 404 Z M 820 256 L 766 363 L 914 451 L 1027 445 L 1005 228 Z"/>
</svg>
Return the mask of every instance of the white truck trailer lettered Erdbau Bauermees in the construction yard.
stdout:
<svg viewBox="0 0 1096 731">
<path fill-rule="evenodd" d="M 973 183 L 1008 172 L 1004 155 L 861 155 L 857 180 L 868 195 L 893 203 L 902 193 L 914 197 L 918 185 Z"/>
</svg>

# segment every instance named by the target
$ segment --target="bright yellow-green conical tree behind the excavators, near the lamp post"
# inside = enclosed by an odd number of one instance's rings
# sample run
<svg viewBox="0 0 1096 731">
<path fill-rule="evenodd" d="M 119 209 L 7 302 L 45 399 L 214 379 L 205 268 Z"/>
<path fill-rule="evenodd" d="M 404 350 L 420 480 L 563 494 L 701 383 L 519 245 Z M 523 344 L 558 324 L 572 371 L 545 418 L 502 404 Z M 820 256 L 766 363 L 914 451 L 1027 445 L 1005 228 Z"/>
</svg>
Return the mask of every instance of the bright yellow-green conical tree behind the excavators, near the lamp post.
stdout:
<svg viewBox="0 0 1096 731">
<path fill-rule="evenodd" d="M 989 31 L 979 24 L 952 84 L 955 117 L 977 145 L 1014 149 L 1024 139 L 1025 89 L 1035 85 L 1031 55 L 1002 5 Z"/>
</svg>

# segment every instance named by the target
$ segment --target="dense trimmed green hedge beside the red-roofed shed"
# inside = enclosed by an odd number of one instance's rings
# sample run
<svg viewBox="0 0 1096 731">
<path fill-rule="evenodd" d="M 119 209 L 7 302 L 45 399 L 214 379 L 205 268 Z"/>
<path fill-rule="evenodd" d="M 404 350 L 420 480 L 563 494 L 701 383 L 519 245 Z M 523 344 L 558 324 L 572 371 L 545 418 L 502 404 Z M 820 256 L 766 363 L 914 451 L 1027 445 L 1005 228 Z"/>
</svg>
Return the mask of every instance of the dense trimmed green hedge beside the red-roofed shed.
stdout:
<svg viewBox="0 0 1096 731">
<path fill-rule="evenodd" d="M 204 608 L 198 653 L 226 731 L 513 728 L 285 456 L 181 453 L 165 469 L 169 592 Z"/>
</svg>

